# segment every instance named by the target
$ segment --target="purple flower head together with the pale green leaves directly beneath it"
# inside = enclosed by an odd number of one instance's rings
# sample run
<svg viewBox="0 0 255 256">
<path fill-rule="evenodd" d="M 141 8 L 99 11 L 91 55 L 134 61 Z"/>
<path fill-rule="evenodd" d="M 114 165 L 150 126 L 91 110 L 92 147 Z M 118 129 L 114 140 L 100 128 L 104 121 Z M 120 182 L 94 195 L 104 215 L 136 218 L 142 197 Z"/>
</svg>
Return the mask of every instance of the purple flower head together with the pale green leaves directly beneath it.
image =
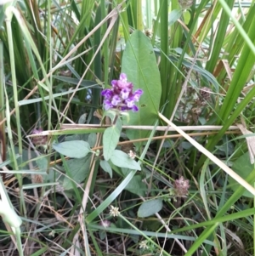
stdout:
<svg viewBox="0 0 255 256">
<path fill-rule="evenodd" d="M 116 150 L 116 145 L 122 133 L 123 121 L 121 114 L 123 115 L 123 111 L 139 111 L 135 103 L 139 101 L 140 96 L 144 92 L 142 89 L 133 91 L 133 83 L 127 81 L 127 75 L 125 73 L 122 73 L 118 80 L 112 80 L 111 86 L 112 88 L 104 89 L 101 92 L 101 95 L 104 96 L 104 108 L 107 111 L 105 116 L 110 117 L 112 121 L 112 125 L 105 128 L 103 134 L 104 162 L 102 162 L 101 167 L 106 171 L 111 169 L 111 166 L 107 163 L 107 161 L 111 160 L 118 167 L 140 170 L 139 162 L 136 162 L 125 152 Z M 114 111 L 114 113 L 111 111 Z M 125 162 L 125 166 L 123 162 Z"/>
</svg>

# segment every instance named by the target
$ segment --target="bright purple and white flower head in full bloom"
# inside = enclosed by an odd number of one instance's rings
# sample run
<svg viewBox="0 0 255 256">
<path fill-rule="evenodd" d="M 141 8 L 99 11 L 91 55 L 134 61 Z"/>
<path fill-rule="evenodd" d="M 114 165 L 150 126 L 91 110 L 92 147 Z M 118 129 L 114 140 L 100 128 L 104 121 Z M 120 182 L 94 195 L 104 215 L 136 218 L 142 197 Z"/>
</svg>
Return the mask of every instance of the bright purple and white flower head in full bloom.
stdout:
<svg viewBox="0 0 255 256">
<path fill-rule="evenodd" d="M 138 102 L 140 96 L 144 93 L 142 89 L 133 92 L 133 83 L 127 82 L 127 75 L 122 73 L 119 80 L 111 81 L 111 89 L 105 89 L 101 95 L 105 97 L 105 110 L 116 109 L 119 111 L 139 111 L 135 102 Z"/>
</svg>

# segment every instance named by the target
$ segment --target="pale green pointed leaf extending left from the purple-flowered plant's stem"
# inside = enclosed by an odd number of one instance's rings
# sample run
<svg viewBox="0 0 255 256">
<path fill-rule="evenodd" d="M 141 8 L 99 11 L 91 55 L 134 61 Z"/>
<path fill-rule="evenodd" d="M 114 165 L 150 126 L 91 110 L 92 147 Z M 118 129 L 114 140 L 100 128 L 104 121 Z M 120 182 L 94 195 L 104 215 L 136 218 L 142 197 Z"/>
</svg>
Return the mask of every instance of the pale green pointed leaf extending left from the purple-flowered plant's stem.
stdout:
<svg viewBox="0 0 255 256">
<path fill-rule="evenodd" d="M 64 156 L 82 158 L 91 152 L 88 142 L 83 140 L 71 140 L 52 145 L 55 151 Z"/>
</svg>

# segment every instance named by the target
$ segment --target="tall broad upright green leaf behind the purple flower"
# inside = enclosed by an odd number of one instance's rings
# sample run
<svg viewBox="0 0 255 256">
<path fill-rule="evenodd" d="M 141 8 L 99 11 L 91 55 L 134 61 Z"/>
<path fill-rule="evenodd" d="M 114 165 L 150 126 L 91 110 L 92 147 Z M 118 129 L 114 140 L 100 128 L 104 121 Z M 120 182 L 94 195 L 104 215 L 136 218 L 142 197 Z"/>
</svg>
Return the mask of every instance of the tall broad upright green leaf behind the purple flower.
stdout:
<svg viewBox="0 0 255 256">
<path fill-rule="evenodd" d="M 161 100 L 161 78 L 156 65 L 156 56 L 148 37 L 141 31 L 134 31 L 127 41 L 122 57 L 122 72 L 133 88 L 141 88 L 144 94 L 139 100 L 139 111 L 130 111 L 128 125 L 154 125 Z M 149 137 L 150 131 L 127 130 L 129 139 Z M 136 145 L 140 145 L 137 143 Z"/>
</svg>

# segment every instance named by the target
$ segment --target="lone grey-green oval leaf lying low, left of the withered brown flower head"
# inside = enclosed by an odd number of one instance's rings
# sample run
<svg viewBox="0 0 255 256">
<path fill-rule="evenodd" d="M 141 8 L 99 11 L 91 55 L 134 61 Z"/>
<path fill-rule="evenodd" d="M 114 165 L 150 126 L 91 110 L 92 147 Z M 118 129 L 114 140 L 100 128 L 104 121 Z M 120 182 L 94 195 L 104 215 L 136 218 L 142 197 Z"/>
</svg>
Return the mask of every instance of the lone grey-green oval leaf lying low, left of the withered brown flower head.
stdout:
<svg viewBox="0 0 255 256">
<path fill-rule="evenodd" d="M 162 199 L 157 198 L 154 200 L 146 201 L 141 204 L 138 211 L 139 218 L 149 217 L 155 213 L 158 213 L 163 207 Z"/>
</svg>

